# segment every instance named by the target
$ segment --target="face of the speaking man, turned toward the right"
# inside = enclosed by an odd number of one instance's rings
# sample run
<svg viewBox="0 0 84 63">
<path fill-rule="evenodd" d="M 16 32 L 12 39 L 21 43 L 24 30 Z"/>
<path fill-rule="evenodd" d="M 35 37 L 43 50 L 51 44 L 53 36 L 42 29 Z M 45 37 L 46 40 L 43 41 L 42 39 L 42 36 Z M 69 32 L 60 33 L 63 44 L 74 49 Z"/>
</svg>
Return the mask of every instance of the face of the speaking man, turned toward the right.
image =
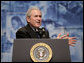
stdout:
<svg viewBox="0 0 84 63">
<path fill-rule="evenodd" d="M 40 10 L 32 10 L 31 16 L 27 20 L 29 24 L 35 28 L 39 28 L 41 26 L 42 15 Z"/>
</svg>

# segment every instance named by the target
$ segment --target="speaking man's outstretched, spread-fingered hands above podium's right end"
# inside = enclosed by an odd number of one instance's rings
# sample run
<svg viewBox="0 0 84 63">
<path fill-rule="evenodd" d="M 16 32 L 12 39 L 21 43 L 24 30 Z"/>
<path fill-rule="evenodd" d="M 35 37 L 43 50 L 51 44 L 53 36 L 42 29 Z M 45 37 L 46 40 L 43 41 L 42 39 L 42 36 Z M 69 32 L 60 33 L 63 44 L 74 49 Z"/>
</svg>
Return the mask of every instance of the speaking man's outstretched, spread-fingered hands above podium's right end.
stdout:
<svg viewBox="0 0 84 63">
<path fill-rule="evenodd" d="M 76 37 L 69 37 L 69 33 L 67 33 L 67 35 L 63 35 L 63 36 L 61 36 L 61 33 L 60 34 L 58 34 L 58 36 L 57 36 L 57 39 L 68 39 L 69 40 L 69 45 L 71 45 L 71 46 L 74 46 L 74 44 L 76 44 Z"/>
</svg>

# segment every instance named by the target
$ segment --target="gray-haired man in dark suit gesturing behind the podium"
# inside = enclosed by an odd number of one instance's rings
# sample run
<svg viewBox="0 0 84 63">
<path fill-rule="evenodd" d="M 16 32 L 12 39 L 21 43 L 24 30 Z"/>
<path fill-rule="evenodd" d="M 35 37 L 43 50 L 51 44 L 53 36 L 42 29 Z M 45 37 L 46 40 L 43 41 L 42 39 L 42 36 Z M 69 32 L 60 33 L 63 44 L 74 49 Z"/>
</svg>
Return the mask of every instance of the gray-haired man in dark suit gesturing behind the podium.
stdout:
<svg viewBox="0 0 84 63">
<path fill-rule="evenodd" d="M 42 21 L 42 13 L 36 8 L 30 8 L 27 11 L 26 15 L 27 25 L 25 27 L 20 28 L 16 32 L 16 38 L 49 38 L 49 33 L 45 28 L 40 29 L 41 21 Z M 69 45 L 74 46 L 76 37 L 69 37 L 69 34 L 63 35 L 61 34 L 57 36 L 57 39 L 69 39 Z"/>
</svg>

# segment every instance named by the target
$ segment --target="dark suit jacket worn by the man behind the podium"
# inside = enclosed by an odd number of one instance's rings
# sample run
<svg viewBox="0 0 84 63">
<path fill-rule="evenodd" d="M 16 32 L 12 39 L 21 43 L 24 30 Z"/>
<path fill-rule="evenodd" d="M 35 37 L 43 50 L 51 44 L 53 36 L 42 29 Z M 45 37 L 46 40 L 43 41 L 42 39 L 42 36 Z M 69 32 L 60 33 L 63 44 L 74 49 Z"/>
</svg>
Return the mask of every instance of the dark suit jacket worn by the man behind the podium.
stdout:
<svg viewBox="0 0 84 63">
<path fill-rule="evenodd" d="M 44 34 L 45 34 L 45 38 L 49 38 L 49 33 L 47 30 L 45 31 Z M 26 26 L 20 28 L 16 32 L 16 39 L 18 38 L 38 38 L 38 36 L 36 32 L 30 27 L 30 25 L 27 24 Z"/>
</svg>

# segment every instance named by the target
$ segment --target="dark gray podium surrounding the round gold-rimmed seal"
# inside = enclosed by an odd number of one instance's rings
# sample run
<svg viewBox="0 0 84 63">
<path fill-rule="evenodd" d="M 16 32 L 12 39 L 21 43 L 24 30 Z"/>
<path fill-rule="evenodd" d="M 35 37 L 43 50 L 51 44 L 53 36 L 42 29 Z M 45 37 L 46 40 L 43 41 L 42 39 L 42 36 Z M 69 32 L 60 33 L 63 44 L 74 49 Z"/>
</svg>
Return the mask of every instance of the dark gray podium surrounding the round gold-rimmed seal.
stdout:
<svg viewBox="0 0 84 63">
<path fill-rule="evenodd" d="M 52 56 L 49 62 L 71 62 L 67 39 L 15 39 L 12 62 L 34 62 L 31 58 L 31 49 L 38 43 L 45 43 L 51 48 Z"/>
</svg>

